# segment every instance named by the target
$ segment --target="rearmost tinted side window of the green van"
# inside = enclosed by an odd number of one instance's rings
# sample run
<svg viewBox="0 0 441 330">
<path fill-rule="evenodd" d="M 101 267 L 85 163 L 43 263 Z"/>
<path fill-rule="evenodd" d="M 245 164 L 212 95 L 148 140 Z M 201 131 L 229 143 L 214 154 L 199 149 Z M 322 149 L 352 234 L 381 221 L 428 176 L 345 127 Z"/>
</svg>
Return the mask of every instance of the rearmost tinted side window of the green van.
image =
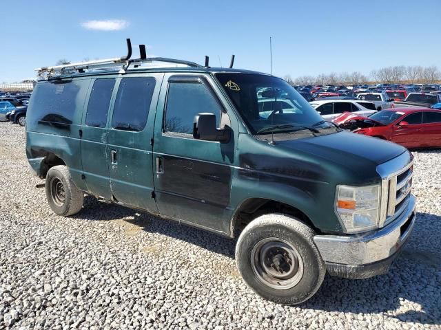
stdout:
<svg viewBox="0 0 441 330">
<path fill-rule="evenodd" d="M 83 97 L 89 83 L 88 79 L 39 83 L 32 96 L 33 119 L 39 122 L 72 124 L 75 110 L 83 107 Z"/>
</svg>

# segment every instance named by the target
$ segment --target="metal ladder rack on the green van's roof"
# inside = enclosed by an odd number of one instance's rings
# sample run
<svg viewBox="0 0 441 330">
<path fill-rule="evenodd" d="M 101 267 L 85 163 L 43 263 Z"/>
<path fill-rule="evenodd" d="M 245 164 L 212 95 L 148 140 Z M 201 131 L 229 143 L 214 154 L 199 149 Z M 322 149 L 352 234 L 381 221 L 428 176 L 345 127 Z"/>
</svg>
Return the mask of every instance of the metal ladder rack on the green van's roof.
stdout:
<svg viewBox="0 0 441 330">
<path fill-rule="evenodd" d="M 82 74 L 85 72 L 96 72 L 100 70 L 107 69 L 119 69 L 119 73 L 125 73 L 130 65 L 134 68 L 140 68 L 141 66 L 147 65 L 147 67 L 154 67 L 152 65 L 148 66 L 153 62 L 164 63 L 161 67 L 203 67 L 194 62 L 176 60 L 174 58 L 163 58 L 163 57 L 151 57 L 147 58 L 145 52 L 145 45 L 139 45 L 140 58 L 130 59 L 132 57 L 132 43 L 130 39 L 126 39 L 127 42 L 127 55 L 121 56 L 119 58 L 107 58 L 97 61 L 88 61 L 81 63 L 69 63 L 65 65 L 55 65 L 53 67 L 39 67 L 35 69 L 37 71 L 37 76 L 40 79 L 48 79 L 52 76 L 62 76 L 65 74 Z M 233 60 L 234 61 L 234 60 Z M 167 65 L 168 63 L 169 65 Z M 170 65 L 171 64 L 171 65 Z"/>
</svg>

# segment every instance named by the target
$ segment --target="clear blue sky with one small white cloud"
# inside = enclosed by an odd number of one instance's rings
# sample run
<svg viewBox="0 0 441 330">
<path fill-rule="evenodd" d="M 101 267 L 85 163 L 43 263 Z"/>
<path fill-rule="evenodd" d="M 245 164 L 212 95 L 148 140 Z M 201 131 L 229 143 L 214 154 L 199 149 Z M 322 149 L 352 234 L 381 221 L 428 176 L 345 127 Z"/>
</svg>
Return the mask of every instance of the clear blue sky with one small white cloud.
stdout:
<svg viewBox="0 0 441 330">
<path fill-rule="evenodd" d="M 34 77 L 59 59 L 147 55 L 269 72 L 276 76 L 389 65 L 441 68 L 440 0 L 424 1 L 22 1 L 3 0 L 0 82 Z M 111 20 L 111 22 L 107 22 Z M 116 22 L 115 22 L 116 20 Z M 93 21 L 105 21 L 93 22 Z M 121 30 L 96 30 L 121 28 Z M 137 56 L 137 52 L 135 53 Z"/>
</svg>

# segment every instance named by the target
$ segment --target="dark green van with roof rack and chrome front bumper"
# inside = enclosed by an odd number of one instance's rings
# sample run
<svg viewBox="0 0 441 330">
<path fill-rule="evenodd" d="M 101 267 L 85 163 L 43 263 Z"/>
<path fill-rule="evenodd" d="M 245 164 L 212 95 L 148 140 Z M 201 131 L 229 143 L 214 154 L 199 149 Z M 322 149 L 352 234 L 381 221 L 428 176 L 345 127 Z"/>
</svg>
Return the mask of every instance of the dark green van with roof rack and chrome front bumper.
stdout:
<svg viewBox="0 0 441 330">
<path fill-rule="evenodd" d="M 389 270 L 416 221 L 406 148 L 325 122 L 268 74 L 115 63 L 43 68 L 34 89 L 26 153 L 55 213 L 88 194 L 238 237 L 240 274 L 276 303 L 309 299 L 326 272 Z"/>
</svg>

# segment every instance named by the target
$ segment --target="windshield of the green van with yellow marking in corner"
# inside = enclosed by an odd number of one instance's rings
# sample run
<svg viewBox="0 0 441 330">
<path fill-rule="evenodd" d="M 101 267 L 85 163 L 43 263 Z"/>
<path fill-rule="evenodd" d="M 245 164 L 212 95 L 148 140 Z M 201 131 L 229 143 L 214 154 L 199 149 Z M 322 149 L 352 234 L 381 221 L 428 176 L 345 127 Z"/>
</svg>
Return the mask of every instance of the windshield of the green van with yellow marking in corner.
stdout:
<svg viewBox="0 0 441 330">
<path fill-rule="evenodd" d="M 285 80 L 263 74 L 215 76 L 254 135 L 329 126 Z"/>
</svg>

